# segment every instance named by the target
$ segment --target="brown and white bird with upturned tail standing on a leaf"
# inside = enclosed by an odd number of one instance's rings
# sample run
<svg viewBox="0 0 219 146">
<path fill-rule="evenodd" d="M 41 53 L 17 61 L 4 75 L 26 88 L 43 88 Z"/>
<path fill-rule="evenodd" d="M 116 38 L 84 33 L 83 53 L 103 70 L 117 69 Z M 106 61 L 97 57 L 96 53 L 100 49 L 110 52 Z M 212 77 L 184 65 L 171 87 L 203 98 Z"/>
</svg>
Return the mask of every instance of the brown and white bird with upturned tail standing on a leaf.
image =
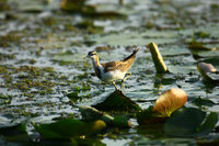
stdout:
<svg viewBox="0 0 219 146">
<path fill-rule="evenodd" d="M 138 50 L 139 48 L 134 49 L 132 54 L 128 57 L 117 61 L 100 63 L 99 55 L 95 50 L 89 52 L 84 58 L 90 58 L 92 60 L 93 68 L 100 80 L 112 82 L 115 89 L 118 90 L 115 81 L 122 80 L 120 89 L 124 87 L 125 80 L 131 76 L 131 72 L 128 70 L 132 66 Z"/>
</svg>

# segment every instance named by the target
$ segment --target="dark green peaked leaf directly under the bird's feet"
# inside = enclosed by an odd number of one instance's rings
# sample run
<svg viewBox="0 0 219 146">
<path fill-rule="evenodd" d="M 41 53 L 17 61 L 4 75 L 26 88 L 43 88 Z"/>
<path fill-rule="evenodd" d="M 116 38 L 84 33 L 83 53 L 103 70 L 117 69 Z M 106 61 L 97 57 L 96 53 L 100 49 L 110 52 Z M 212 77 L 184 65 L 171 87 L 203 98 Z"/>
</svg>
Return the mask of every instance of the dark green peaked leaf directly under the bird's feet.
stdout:
<svg viewBox="0 0 219 146">
<path fill-rule="evenodd" d="M 134 112 L 140 111 L 140 106 L 124 96 L 122 91 L 116 90 L 111 93 L 103 102 L 92 105 L 93 108 L 105 112 Z"/>
</svg>

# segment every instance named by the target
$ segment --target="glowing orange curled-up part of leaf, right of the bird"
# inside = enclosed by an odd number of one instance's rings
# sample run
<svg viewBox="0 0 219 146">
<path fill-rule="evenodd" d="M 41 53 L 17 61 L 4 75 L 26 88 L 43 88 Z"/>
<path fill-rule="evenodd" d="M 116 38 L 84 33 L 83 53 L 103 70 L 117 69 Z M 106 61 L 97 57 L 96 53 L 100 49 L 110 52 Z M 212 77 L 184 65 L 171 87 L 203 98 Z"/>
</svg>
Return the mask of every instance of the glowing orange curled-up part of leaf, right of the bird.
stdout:
<svg viewBox="0 0 219 146">
<path fill-rule="evenodd" d="M 172 88 L 159 97 L 152 111 L 160 116 L 170 116 L 172 112 L 183 106 L 186 101 L 187 96 L 182 89 Z"/>
</svg>

